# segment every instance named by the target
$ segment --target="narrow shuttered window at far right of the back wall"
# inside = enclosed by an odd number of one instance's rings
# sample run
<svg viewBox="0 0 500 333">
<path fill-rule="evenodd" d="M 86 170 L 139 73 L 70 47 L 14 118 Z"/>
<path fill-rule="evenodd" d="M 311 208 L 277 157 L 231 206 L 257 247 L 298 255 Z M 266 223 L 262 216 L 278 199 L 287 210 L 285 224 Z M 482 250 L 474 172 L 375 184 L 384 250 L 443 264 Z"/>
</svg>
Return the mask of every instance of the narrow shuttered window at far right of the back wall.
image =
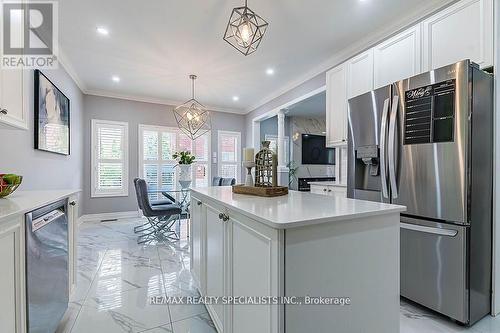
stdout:
<svg viewBox="0 0 500 333">
<path fill-rule="evenodd" d="M 241 175 L 241 133 L 219 131 L 219 177 L 235 178 Z"/>
</svg>

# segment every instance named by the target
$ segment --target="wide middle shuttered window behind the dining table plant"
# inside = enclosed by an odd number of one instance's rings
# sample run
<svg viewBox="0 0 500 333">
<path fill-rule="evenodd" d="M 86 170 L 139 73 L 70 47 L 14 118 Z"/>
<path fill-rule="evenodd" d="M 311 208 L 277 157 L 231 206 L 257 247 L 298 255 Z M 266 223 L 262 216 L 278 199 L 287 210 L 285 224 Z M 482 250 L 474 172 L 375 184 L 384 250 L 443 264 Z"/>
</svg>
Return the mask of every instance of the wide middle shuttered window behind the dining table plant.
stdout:
<svg viewBox="0 0 500 333">
<path fill-rule="evenodd" d="M 210 133 L 194 142 L 178 128 L 139 125 L 139 176 L 146 180 L 151 189 L 175 190 L 177 182 L 177 162 L 172 158 L 176 151 L 189 150 L 196 156 L 192 167 L 192 187 L 209 184 Z M 157 199 L 151 195 L 150 199 Z"/>
</svg>

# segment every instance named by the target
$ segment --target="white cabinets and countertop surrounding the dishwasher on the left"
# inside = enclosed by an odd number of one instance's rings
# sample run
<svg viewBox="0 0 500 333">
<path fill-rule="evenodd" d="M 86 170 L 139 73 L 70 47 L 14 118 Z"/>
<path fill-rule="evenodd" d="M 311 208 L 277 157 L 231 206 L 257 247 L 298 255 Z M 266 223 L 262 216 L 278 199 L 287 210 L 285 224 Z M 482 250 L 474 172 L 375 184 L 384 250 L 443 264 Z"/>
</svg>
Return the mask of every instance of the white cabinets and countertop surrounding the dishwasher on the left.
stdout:
<svg viewBox="0 0 500 333">
<path fill-rule="evenodd" d="M 79 190 L 18 191 L 0 199 L 0 332 L 25 333 L 25 214 L 68 200 L 69 290 L 76 286 L 76 224 Z"/>
</svg>

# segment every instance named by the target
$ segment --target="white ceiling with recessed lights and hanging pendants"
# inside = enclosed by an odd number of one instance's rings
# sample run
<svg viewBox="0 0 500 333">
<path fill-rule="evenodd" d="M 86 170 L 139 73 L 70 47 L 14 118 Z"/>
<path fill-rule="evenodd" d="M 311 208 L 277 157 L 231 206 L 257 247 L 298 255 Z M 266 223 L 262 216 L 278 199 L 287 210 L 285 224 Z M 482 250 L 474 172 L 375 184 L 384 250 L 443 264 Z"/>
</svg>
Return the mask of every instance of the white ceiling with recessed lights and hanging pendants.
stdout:
<svg viewBox="0 0 500 333">
<path fill-rule="evenodd" d="M 447 2 L 250 0 L 270 25 L 257 52 L 245 57 L 222 39 L 232 8 L 243 0 L 63 0 L 60 58 L 85 93 L 184 102 L 194 73 L 201 103 L 247 113 L 320 73 L 314 71 L 335 54 L 387 30 L 388 22 L 402 27 Z M 109 35 L 97 34 L 97 27 Z"/>
</svg>

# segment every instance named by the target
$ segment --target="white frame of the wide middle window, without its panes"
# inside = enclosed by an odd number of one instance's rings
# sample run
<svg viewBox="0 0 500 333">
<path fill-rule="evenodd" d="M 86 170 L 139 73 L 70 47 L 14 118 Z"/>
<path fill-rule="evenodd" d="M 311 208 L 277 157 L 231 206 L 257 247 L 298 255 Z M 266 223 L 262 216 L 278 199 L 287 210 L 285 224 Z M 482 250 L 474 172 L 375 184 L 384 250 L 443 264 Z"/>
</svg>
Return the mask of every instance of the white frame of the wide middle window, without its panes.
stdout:
<svg viewBox="0 0 500 333">
<path fill-rule="evenodd" d="M 185 135 L 179 128 L 177 127 L 170 127 L 170 126 L 158 126 L 158 125 L 147 125 L 147 124 L 139 124 L 139 130 L 138 130 L 138 136 L 137 136 L 137 145 L 138 145 L 138 176 L 140 178 L 144 178 L 144 164 L 147 164 L 146 163 L 146 160 L 144 159 L 144 142 L 143 142 L 143 138 L 144 138 L 144 131 L 147 131 L 147 130 L 150 130 L 150 131 L 156 131 L 158 132 L 159 134 L 159 145 L 158 145 L 158 157 L 161 158 L 161 141 L 160 141 L 160 138 L 161 138 L 161 135 L 162 133 L 165 133 L 165 132 L 171 132 L 171 133 L 175 133 L 176 134 L 176 140 L 175 140 L 175 149 L 174 151 L 178 151 L 179 150 L 179 147 L 178 147 L 178 144 L 179 144 L 179 135 Z M 211 154 L 212 154 L 212 146 L 211 146 L 211 141 L 212 141 L 212 135 L 211 135 L 211 132 L 208 131 L 207 133 L 205 133 L 204 135 L 207 136 L 207 148 L 208 148 L 208 152 L 207 152 L 207 159 L 206 160 L 199 160 L 199 159 L 195 159 L 195 162 L 193 163 L 193 167 L 191 168 L 191 178 L 193 179 L 193 182 L 191 183 L 191 187 L 195 187 L 196 186 L 196 164 L 198 162 L 202 163 L 202 164 L 206 164 L 207 165 L 207 186 L 210 186 L 211 184 L 211 171 L 212 171 L 212 167 L 211 167 Z M 192 146 L 191 146 L 191 153 L 195 153 L 195 150 L 194 150 L 194 147 L 193 147 L 193 144 L 194 142 L 192 142 Z M 162 164 L 173 164 L 173 165 L 177 165 L 177 161 L 175 160 L 162 160 L 162 159 L 159 159 L 159 160 L 154 160 L 154 161 L 151 161 L 151 162 L 158 162 L 158 165 L 162 165 Z M 176 168 L 175 170 L 175 180 L 174 180 L 174 189 L 175 190 L 178 190 L 180 189 L 180 184 L 178 182 L 178 177 L 179 177 L 179 168 Z M 158 184 L 160 185 L 160 184 Z"/>
</svg>

